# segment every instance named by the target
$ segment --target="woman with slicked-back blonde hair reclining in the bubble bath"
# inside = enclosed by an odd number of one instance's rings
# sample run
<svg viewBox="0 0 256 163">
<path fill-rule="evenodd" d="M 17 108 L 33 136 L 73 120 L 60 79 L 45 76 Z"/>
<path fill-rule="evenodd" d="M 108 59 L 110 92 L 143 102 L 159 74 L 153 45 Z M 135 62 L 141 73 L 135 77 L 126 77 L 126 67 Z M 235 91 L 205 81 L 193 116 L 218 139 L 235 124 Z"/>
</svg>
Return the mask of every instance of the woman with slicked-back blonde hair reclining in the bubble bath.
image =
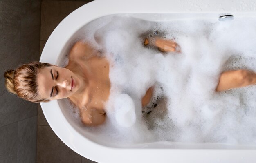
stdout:
<svg viewBox="0 0 256 163">
<path fill-rule="evenodd" d="M 162 52 L 178 51 L 171 40 L 145 39 L 145 46 L 155 46 Z M 104 103 L 110 94 L 109 63 L 100 52 L 85 42 L 76 42 L 69 54 L 67 67 L 33 62 L 4 73 L 9 92 L 32 102 L 47 102 L 70 98 L 80 109 L 85 125 L 99 125 L 106 114 Z M 256 74 L 247 70 L 223 72 L 216 91 L 244 87 L 256 83 Z M 153 87 L 141 97 L 144 107 L 150 101 Z"/>
</svg>

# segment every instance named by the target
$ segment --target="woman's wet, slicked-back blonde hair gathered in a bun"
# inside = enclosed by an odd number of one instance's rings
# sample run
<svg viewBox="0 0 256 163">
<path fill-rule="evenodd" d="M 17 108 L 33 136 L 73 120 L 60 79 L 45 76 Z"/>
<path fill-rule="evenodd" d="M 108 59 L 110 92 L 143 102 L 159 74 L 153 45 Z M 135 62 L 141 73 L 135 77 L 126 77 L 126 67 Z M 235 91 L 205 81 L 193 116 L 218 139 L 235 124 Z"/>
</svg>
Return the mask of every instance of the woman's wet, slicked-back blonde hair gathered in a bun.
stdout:
<svg viewBox="0 0 256 163">
<path fill-rule="evenodd" d="M 38 93 L 37 75 L 44 67 L 52 66 L 49 63 L 31 62 L 8 70 L 4 73 L 5 87 L 13 94 L 18 95 L 25 100 L 39 103 L 48 102 Z"/>
</svg>

